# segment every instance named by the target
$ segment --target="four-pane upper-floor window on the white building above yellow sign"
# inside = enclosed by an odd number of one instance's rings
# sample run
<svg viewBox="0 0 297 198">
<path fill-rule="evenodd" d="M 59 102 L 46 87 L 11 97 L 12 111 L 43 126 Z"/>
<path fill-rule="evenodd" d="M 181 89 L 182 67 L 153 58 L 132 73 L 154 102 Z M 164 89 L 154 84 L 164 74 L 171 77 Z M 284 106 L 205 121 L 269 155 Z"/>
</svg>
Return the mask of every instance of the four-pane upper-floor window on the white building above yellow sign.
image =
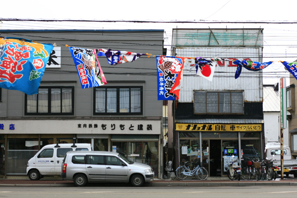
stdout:
<svg viewBox="0 0 297 198">
<path fill-rule="evenodd" d="M 195 114 L 243 114 L 243 92 L 194 92 Z"/>
</svg>

